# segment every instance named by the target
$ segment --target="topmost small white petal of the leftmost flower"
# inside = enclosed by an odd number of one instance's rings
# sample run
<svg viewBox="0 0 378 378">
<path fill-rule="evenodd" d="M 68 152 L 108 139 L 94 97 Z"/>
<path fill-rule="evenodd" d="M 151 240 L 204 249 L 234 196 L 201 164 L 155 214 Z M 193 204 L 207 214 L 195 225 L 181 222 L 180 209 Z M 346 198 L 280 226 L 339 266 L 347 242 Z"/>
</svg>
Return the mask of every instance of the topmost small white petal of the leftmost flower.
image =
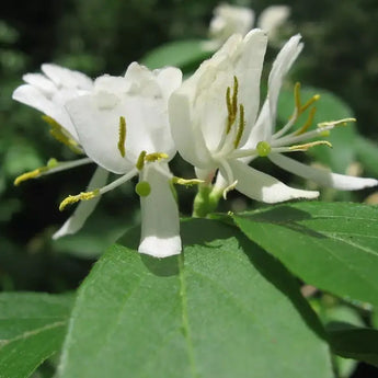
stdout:
<svg viewBox="0 0 378 378">
<path fill-rule="evenodd" d="M 82 72 L 73 71 L 57 65 L 42 65 L 42 71 L 57 85 L 75 89 L 91 90 L 92 80 Z"/>
</svg>

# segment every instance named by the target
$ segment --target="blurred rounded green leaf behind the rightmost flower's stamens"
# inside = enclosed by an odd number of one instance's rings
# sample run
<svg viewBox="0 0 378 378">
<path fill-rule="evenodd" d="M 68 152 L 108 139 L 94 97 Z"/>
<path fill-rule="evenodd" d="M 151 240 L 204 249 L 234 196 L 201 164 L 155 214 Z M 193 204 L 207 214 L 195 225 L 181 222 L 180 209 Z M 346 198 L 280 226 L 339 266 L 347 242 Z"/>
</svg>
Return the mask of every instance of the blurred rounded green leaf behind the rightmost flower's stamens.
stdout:
<svg viewBox="0 0 378 378">
<path fill-rule="evenodd" d="M 312 127 L 317 127 L 318 123 L 327 121 L 335 121 L 342 118 L 353 117 L 352 110 L 337 96 L 323 89 L 302 88 L 301 98 L 302 103 L 314 94 L 320 94 L 320 100 L 316 102 L 317 113 L 313 119 Z M 279 94 L 278 118 L 286 123 L 294 110 L 294 95 L 293 91 L 283 90 Z M 308 112 L 298 122 L 300 127 L 305 122 Z M 313 158 L 322 164 L 330 167 L 333 171 L 345 173 L 347 167 L 356 161 L 356 129 L 353 123 L 348 123 L 346 127 L 340 126 L 331 131 L 327 138 L 333 149 L 328 147 L 316 147 L 309 152 Z"/>
</svg>

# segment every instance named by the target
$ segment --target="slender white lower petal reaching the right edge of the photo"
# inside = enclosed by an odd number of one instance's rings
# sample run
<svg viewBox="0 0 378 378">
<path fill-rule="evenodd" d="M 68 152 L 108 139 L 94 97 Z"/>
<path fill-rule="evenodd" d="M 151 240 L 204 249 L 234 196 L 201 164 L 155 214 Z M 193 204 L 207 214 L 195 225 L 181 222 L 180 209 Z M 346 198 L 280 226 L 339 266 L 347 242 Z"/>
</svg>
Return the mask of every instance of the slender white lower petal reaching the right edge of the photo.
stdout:
<svg viewBox="0 0 378 378">
<path fill-rule="evenodd" d="M 322 186 L 334 187 L 339 191 L 358 191 L 364 187 L 378 185 L 378 181 L 375 179 L 354 177 L 332 173 L 327 170 L 302 164 L 280 153 L 271 153 L 268 158 L 285 171 L 291 172 L 307 180 L 312 180 Z"/>
</svg>

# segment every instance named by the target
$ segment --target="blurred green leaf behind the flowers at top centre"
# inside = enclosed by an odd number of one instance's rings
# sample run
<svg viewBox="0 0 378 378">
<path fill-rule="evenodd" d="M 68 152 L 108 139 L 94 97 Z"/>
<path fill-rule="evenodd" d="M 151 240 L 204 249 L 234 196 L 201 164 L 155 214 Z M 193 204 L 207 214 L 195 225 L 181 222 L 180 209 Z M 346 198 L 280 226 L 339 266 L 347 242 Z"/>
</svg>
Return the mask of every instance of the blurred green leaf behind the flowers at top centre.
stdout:
<svg viewBox="0 0 378 378">
<path fill-rule="evenodd" d="M 164 66 L 190 68 L 209 57 L 210 53 L 204 49 L 203 45 L 202 39 L 170 42 L 148 53 L 141 62 L 149 69 Z"/>
</svg>

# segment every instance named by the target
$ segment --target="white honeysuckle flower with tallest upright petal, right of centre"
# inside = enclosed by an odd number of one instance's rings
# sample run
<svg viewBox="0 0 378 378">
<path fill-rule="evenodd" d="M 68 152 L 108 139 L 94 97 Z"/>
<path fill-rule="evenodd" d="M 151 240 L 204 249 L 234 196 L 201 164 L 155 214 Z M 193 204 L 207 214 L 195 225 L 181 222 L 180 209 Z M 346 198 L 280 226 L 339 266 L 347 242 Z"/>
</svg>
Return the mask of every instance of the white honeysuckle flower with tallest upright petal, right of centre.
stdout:
<svg viewBox="0 0 378 378">
<path fill-rule="evenodd" d="M 199 179 L 210 183 L 220 170 L 225 194 L 237 188 L 265 203 L 314 198 L 318 192 L 291 188 L 239 159 L 259 111 L 266 43 L 261 30 L 237 34 L 203 62 L 170 99 L 172 136 Z"/>
</svg>

